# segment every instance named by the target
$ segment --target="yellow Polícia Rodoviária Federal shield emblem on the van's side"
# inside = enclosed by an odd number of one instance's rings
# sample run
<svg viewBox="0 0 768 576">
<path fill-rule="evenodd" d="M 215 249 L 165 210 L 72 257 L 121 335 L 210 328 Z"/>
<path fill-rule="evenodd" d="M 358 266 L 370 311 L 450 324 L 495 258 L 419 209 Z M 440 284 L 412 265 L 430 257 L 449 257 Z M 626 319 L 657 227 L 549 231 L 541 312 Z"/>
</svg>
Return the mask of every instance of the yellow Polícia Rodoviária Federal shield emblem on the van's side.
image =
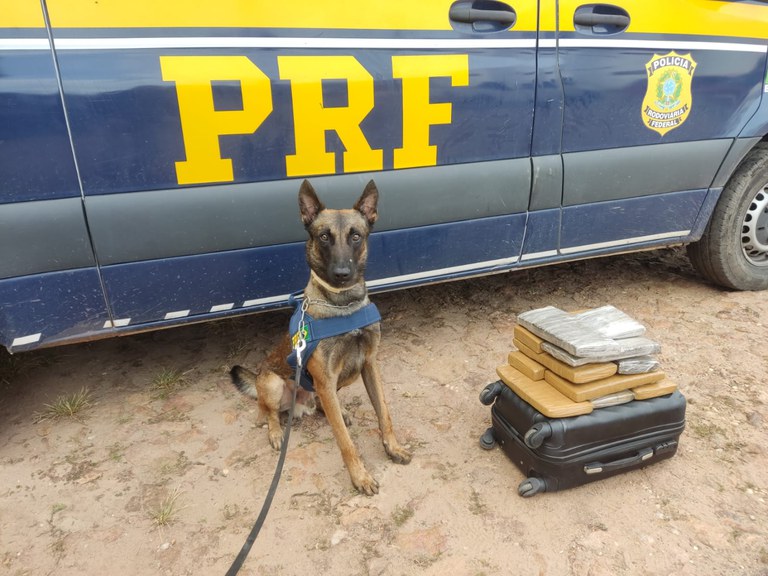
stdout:
<svg viewBox="0 0 768 576">
<path fill-rule="evenodd" d="M 691 82 L 696 61 L 690 54 L 654 54 L 645 65 L 648 88 L 643 99 L 645 126 L 662 136 L 681 126 L 693 105 Z"/>
</svg>

